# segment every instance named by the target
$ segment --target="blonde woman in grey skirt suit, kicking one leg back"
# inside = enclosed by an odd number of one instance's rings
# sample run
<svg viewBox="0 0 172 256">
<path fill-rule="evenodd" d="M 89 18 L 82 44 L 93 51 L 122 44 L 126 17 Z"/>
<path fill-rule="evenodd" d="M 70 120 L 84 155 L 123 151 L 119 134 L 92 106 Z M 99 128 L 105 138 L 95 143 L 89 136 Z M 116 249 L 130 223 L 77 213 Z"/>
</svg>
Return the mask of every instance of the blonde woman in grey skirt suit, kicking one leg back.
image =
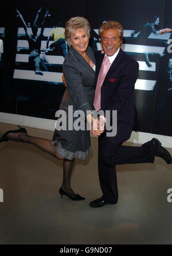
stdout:
<svg viewBox="0 0 172 256">
<path fill-rule="evenodd" d="M 95 92 L 95 56 L 90 46 L 90 25 L 83 17 L 71 18 L 65 25 L 65 38 L 69 45 L 68 55 L 65 56 L 63 73 L 67 82 L 67 88 L 61 101 L 60 110 L 67 114 L 71 110 L 82 110 L 92 126 L 92 115 L 87 115 L 87 110 L 93 109 Z M 20 128 L 20 127 L 19 127 Z M 100 131 L 100 133 L 103 131 Z M 97 133 L 99 133 L 97 131 Z M 99 134 L 100 134 L 99 133 Z M 91 139 L 89 130 L 59 130 L 56 127 L 53 140 L 36 138 L 27 134 L 24 128 L 15 131 L 7 131 L 0 142 L 21 141 L 32 143 L 45 152 L 52 154 L 59 160 L 63 160 L 63 180 L 59 192 L 67 195 L 72 200 L 83 200 L 79 194 L 75 194 L 71 188 L 71 173 L 75 158 L 85 159 L 91 151 Z"/>
</svg>

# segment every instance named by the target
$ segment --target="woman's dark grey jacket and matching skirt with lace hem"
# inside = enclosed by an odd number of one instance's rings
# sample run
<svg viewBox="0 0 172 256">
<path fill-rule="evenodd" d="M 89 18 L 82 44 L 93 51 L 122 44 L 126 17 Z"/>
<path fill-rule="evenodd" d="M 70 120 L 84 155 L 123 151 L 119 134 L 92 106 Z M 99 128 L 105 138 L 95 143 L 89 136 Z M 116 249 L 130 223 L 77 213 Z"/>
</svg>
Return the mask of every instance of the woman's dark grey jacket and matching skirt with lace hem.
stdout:
<svg viewBox="0 0 172 256">
<path fill-rule="evenodd" d="M 88 46 L 86 52 L 95 64 L 95 56 L 90 46 Z M 71 109 L 73 113 L 76 110 L 83 110 L 86 117 L 87 110 L 93 110 L 95 71 L 72 46 L 69 49 L 68 55 L 65 56 L 62 71 L 67 82 L 67 88 L 64 92 L 59 110 L 65 111 L 67 120 L 68 113 L 71 113 Z M 76 118 L 73 118 L 73 122 L 75 120 Z M 86 118 L 84 122 L 86 126 Z M 73 158 L 85 159 L 89 152 L 91 152 L 90 131 L 69 130 L 68 123 L 67 130 L 60 130 L 56 127 L 52 145 L 56 146 L 56 151 L 64 158 L 69 160 Z"/>
</svg>

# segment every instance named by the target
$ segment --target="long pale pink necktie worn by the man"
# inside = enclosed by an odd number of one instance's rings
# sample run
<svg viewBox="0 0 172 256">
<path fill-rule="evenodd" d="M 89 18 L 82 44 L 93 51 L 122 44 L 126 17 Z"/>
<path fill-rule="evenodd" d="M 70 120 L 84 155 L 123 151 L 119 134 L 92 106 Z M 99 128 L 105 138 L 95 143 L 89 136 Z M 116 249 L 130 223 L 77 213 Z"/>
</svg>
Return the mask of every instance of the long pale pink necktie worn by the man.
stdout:
<svg viewBox="0 0 172 256">
<path fill-rule="evenodd" d="M 96 111 L 100 110 L 100 108 L 101 108 L 101 104 L 100 104 L 100 102 L 101 102 L 101 86 L 104 82 L 105 76 L 110 67 L 111 67 L 110 60 L 109 60 L 108 56 L 105 56 L 103 63 L 101 64 L 99 76 L 97 79 L 95 99 L 93 102 L 93 106 L 95 107 Z"/>
</svg>

